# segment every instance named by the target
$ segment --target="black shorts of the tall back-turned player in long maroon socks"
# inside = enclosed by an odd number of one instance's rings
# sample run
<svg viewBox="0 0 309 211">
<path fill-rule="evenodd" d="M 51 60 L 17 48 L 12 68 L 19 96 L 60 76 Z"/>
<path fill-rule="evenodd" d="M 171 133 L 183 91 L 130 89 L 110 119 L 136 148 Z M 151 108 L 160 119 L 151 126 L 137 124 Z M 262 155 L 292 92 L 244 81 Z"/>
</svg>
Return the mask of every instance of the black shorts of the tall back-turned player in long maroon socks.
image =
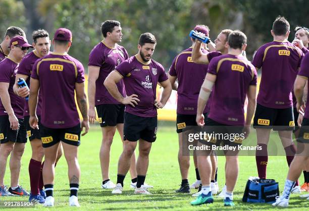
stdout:
<svg viewBox="0 0 309 211">
<path fill-rule="evenodd" d="M 293 107 L 287 109 L 272 109 L 259 103 L 253 120 L 253 128 L 267 128 L 273 130 L 294 130 Z"/>
</svg>

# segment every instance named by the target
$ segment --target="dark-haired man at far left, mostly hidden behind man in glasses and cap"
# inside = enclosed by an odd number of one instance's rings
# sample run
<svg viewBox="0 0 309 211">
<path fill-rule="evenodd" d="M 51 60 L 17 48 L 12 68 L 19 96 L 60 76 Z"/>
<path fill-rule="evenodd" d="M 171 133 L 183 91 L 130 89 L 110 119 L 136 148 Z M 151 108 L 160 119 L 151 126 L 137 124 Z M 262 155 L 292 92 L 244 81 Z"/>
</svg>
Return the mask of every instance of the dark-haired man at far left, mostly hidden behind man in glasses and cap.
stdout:
<svg viewBox="0 0 309 211">
<path fill-rule="evenodd" d="M 0 62 L 4 60 L 10 52 L 10 41 L 15 36 L 23 36 L 26 37 L 25 32 L 16 26 L 10 26 L 5 34 L 3 41 L 0 44 Z"/>
</svg>

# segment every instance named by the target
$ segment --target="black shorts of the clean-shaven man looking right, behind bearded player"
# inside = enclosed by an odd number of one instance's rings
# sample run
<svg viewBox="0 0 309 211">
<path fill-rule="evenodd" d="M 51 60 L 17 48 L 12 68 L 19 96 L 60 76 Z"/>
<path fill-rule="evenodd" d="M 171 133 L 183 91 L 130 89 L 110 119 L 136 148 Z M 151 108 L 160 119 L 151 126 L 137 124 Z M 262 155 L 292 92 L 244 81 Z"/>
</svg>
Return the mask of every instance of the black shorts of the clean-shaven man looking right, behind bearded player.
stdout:
<svg viewBox="0 0 309 211">
<path fill-rule="evenodd" d="M 95 108 L 101 127 L 123 124 L 124 104 L 100 104 L 96 105 Z"/>
</svg>

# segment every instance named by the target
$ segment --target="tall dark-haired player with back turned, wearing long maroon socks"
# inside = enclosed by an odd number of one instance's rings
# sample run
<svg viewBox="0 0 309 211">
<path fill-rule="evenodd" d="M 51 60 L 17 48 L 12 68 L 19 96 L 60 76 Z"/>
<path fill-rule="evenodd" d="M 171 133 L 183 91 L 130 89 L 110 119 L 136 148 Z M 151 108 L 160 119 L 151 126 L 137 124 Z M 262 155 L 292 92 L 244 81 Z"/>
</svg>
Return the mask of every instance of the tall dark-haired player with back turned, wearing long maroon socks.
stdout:
<svg viewBox="0 0 309 211">
<path fill-rule="evenodd" d="M 262 45 L 252 61 L 256 70 L 262 69 L 258 104 L 253 121 L 257 144 L 262 148 L 255 153 L 256 166 L 261 179 L 266 179 L 267 145 L 271 129 L 278 131 L 288 166 L 295 154 L 295 146 L 292 142 L 292 131 L 295 125 L 291 91 L 303 52 L 287 40 L 289 29 L 290 25 L 284 17 L 276 18 L 271 30 L 274 41 Z M 292 193 L 298 192 L 300 187 L 296 183 Z"/>
</svg>

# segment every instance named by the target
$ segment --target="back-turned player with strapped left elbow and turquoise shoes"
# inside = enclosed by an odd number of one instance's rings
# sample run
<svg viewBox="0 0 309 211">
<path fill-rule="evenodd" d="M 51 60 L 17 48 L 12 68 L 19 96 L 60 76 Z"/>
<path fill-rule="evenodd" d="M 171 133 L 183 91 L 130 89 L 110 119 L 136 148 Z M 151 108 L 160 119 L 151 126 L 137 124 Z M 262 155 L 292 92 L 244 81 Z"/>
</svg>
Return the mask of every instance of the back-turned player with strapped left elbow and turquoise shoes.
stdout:
<svg viewBox="0 0 309 211">
<path fill-rule="evenodd" d="M 245 137 L 249 135 L 256 104 L 256 71 L 250 62 L 242 56 L 242 51 L 247 46 L 246 39 L 244 33 L 240 31 L 232 32 L 228 38 L 228 54 L 212 59 L 208 66 L 207 75 L 200 88 L 196 114 L 197 125 L 205 125 L 205 131 L 208 134 L 213 132 L 241 134 L 244 131 Z M 200 41 L 197 40 L 196 42 Z M 239 86 L 235 86 L 235 84 L 239 84 Z M 227 89 L 227 87 L 231 86 L 234 88 Z M 210 112 L 204 121 L 203 111 L 213 87 Z M 243 106 L 246 96 L 248 97 L 248 107 L 245 119 Z M 210 186 L 212 143 L 214 142 L 216 146 L 219 146 L 221 142 L 223 146 L 238 146 L 241 144 L 242 139 L 209 141 L 198 142 L 198 146 L 210 144 L 211 148 L 197 154 L 198 169 L 202 170 L 200 171 L 202 192 L 194 201 L 191 201 L 192 205 L 212 203 L 214 201 Z M 238 149 L 226 150 L 224 153 L 226 155 L 225 176 L 227 186 L 224 205 L 233 206 L 233 190 L 238 177 Z"/>
</svg>

